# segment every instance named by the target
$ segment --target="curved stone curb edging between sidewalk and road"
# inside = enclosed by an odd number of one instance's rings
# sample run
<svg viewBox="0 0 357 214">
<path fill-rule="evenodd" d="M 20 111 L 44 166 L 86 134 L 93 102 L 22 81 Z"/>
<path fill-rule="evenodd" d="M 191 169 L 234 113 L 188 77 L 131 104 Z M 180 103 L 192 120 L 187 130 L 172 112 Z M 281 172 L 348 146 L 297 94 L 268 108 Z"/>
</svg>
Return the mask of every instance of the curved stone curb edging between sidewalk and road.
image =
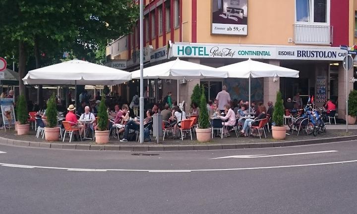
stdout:
<svg viewBox="0 0 357 214">
<path fill-rule="evenodd" d="M 0 145 L 13 145 L 20 147 L 48 148 L 48 149 L 70 149 L 70 150 L 102 150 L 102 151 L 189 151 L 189 150 L 222 150 L 222 149 L 247 149 L 247 148 L 271 148 L 287 147 L 310 144 L 332 143 L 340 141 L 357 140 L 357 135 L 336 137 L 336 138 L 319 138 L 304 141 L 285 141 L 272 143 L 252 143 L 252 144 L 211 144 L 211 145 L 93 145 L 93 144 L 61 144 L 61 143 L 44 143 L 29 142 L 7 139 L 0 137 Z"/>
</svg>

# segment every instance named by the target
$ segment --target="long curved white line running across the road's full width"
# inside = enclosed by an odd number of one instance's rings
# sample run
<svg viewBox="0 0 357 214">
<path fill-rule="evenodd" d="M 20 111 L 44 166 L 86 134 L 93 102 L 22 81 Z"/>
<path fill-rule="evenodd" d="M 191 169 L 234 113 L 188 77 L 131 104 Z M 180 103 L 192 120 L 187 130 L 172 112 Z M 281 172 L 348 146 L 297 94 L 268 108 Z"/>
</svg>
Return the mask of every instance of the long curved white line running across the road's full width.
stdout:
<svg viewBox="0 0 357 214">
<path fill-rule="evenodd" d="M 310 163 L 310 164 L 300 164 L 300 165 L 282 165 L 282 166 L 262 166 L 262 167 L 247 167 L 247 168 L 223 168 L 223 169 L 187 169 L 187 170 L 153 170 L 153 169 L 83 169 L 89 171 L 132 171 L 132 172 L 194 172 L 194 171 L 235 171 L 235 170 L 247 170 L 247 169 L 270 169 L 270 168 L 289 168 L 289 167 L 301 167 L 301 166 L 316 166 L 316 165 L 331 165 L 340 163 L 351 163 L 357 162 L 357 160 L 346 160 L 337 162 L 324 162 L 324 163 Z M 11 167 L 21 167 L 21 168 L 46 168 L 46 169 L 65 169 L 65 170 L 79 170 L 78 168 L 60 168 L 60 167 L 48 167 L 48 166 L 32 166 L 32 165 L 16 165 L 9 163 L 0 163 L 1 166 L 11 166 Z"/>
</svg>

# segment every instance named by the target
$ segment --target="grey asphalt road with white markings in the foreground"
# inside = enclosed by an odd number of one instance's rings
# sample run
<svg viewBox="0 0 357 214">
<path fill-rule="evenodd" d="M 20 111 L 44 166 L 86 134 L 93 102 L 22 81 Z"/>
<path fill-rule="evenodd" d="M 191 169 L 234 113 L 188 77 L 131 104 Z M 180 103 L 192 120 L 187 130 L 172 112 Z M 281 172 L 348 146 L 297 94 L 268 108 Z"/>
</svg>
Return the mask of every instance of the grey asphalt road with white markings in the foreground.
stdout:
<svg viewBox="0 0 357 214">
<path fill-rule="evenodd" d="M 357 213 L 357 141 L 187 152 L 0 151 L 1 214 Z"/>
</svg>

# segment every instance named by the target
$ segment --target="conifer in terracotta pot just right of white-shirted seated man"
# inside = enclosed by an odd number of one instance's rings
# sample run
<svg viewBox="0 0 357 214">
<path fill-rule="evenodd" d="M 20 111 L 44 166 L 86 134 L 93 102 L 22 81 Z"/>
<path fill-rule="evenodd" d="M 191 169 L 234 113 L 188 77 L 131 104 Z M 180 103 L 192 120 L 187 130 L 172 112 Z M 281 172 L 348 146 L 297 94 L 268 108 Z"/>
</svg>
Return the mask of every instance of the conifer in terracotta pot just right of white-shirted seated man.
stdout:
<svg viewBox="0 0 357 214">
<path fill-rule="evenodd" d="M 95 131 L 97 144 L 106 144 L 109 142 L 108 119 L 107 107 L 103 96 L 98 109 L 98 124 Z"/>
</svg>

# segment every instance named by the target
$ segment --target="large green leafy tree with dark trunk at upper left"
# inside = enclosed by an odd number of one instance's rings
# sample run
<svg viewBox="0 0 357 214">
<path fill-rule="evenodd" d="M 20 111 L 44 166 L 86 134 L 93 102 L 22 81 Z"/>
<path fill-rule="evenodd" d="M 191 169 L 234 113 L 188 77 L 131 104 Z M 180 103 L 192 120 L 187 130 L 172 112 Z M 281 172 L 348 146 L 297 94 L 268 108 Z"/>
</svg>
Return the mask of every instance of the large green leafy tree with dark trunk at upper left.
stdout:
<svg viewBox="0 0 357 214">
<path fill-rule="evenodd" d="M 20 94 L 25 92 L 22 78 L 31 53 L 38 66 L 47 46 L 55 47 L 53 53 L 67 50 L 83 58 L 107 39 L 131 32 L 138 14 L 133 0 L 1 0 L 0 20 L 6 21 L 0 47 L 8 55 L 18 53 Z"/>
</svg>

